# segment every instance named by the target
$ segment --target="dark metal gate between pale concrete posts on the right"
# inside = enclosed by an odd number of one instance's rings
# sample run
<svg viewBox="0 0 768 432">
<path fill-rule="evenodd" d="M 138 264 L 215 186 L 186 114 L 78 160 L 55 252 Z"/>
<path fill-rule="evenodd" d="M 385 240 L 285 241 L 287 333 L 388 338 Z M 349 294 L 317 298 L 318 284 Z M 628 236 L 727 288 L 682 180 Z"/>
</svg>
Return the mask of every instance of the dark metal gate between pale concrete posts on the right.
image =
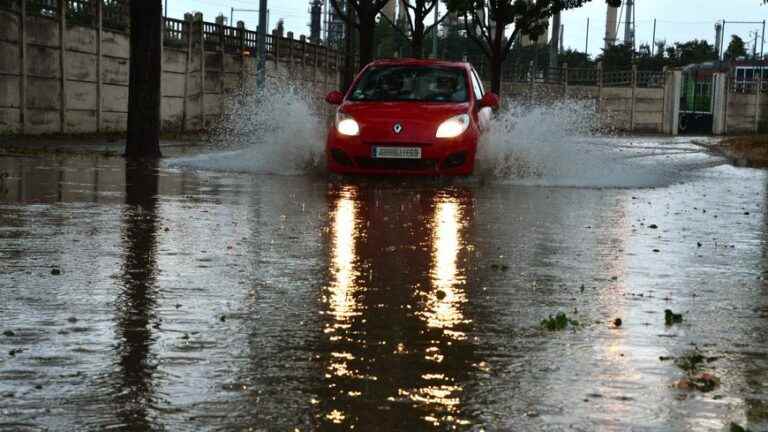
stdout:
<svg viewBox="0 0 768 432">
<path fill-rule="evenodd" d="M 680 89 L 680 133 L 712 133 L 714 77 L 698 71 L 684 72 Z"/>
</svg>

